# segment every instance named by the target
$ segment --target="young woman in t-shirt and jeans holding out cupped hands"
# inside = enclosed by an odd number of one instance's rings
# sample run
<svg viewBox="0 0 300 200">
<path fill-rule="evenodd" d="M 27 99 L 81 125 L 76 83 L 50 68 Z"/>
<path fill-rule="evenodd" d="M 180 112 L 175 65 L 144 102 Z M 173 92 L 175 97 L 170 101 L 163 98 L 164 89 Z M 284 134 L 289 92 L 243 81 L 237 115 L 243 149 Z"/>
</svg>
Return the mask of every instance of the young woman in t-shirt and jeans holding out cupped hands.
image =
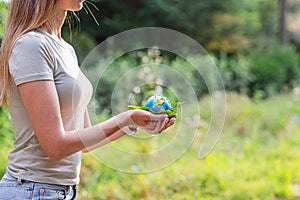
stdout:
<svg viewBox="0 0 300 200">
<path fill-rule="evenodd" d="M 160 133 L 175 118 L 132 110 L 91 126 L 92 87 L 61 38 L 83 0 L 12 0 L 0 54 L 0 98 L 16 135 L 0 199 L 75 199 L 81 152 L 137 127 Z"/>
</svg>

